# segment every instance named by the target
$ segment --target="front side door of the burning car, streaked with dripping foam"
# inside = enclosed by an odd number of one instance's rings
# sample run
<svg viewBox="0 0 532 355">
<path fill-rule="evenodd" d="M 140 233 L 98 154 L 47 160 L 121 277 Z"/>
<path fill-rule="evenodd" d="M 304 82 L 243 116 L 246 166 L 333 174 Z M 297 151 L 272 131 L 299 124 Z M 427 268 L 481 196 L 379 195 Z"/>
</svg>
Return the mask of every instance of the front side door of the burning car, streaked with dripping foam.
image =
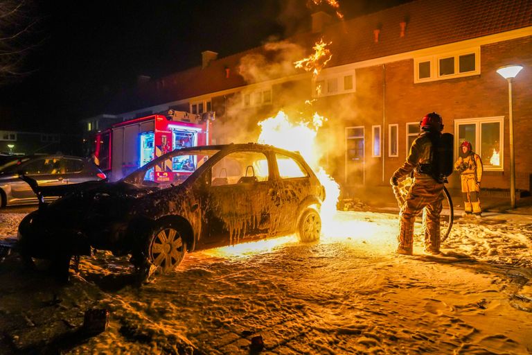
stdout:
<svg viewBox="0 0 532 355">
<path fill-rule="evenodd" d="M 199 248 L 265 238 L 270 235 L 274 186 L 267 153 L 239 150 L 218 160 L 206 173 L 202 199 L 204 237 Z"/>
</svg>

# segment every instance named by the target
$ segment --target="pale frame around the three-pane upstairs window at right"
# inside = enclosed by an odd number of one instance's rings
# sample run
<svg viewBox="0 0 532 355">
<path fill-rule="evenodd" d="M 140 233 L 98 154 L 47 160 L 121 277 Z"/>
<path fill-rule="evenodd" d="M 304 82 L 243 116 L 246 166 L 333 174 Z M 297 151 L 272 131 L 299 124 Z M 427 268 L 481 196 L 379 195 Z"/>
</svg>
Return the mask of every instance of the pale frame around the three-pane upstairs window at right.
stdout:
<svg viewBox="0 0 532 355">
<path fill-rule="evenodd" d="M 460 56 L 475 54 L 475 70 L 459 72 L 460 69 Z M 454 58 L 454 73 L 447 75 L 440 74 L 440 60 L 445 58 Z M 423 62 L 430 62 L 430 76 L 429 78 L 419 78 L 419 64 Z M 480 75 L 480 46 L 476 46 L 469 49 L 462 49 L 461 51 L 435 53 L 434 55 L 427 55 L 420 58 L 414 58 L 414 84 L 427 83 L 429 81 L 447 80 L 463 78 L 465 76 Z"/>
</svg>

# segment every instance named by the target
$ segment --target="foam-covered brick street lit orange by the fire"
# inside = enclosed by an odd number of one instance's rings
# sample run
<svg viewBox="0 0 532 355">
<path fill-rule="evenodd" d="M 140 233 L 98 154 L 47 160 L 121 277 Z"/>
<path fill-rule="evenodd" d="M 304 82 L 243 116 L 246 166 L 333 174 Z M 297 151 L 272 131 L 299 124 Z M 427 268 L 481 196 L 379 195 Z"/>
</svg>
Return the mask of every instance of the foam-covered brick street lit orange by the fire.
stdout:
<svg viewBox="0 0 532 355">
<path fill-rule="evenodd" d="M 0 235 L 24 214 L 0 214 Z M 98 252 L 68 286 L 0 265 L 0 349 L 67 354 L 529 354 L 532 217 L 459 219 L 441 256 L 393 254 L 398 216 L 339 212 L 319 243 L 294 236 L 188 254 L 174 275 L 132 286 L 128 264 Z M 109 328 L 73 333 L 91 307 Z M 48 331 L 48 334 L 46 334 Z M 39 339 L 42 339 L 39 343 Z"/>
</svg>

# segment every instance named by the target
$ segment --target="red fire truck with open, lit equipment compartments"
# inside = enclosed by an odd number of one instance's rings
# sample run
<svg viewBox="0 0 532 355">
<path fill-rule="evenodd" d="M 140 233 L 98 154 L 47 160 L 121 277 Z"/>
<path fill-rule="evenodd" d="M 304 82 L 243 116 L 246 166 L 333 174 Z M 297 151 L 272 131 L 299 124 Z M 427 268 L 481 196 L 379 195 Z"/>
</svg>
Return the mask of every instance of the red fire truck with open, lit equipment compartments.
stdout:
<svg viewBox="0 0 532 355">
<path fill-rule="evenodd" d="M 118 180 L 151 162 L 156 157 L 191 146 L 211 144 L 209 125 L 213 112 L 202 115 L 170 110 L 168 115 L 154 114 L 116 123 L 95 139 L 95 160 L 110 180 Z M 150 171 L 150 180 L 172 181 L 186 178 L 197 162 L 193 157 L 178 157 Z"/>
</svg>

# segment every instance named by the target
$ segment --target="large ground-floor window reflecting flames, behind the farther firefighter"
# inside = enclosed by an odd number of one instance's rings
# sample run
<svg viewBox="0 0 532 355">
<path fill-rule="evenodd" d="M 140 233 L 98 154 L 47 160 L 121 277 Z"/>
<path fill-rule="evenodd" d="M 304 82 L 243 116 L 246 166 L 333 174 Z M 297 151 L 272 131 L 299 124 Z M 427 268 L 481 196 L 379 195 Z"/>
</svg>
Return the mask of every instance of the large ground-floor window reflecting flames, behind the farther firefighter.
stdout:
<svg viewBox="0 0 532 355">
<path fill-rule="evenodd" d="M 458 159 L 463 141 L 469 141 L 475 153 L 480 155 L 484 170 L 503 171 L 503 132 L 504 117 L 455 120 L 454 158 Z"/>
</svg>

